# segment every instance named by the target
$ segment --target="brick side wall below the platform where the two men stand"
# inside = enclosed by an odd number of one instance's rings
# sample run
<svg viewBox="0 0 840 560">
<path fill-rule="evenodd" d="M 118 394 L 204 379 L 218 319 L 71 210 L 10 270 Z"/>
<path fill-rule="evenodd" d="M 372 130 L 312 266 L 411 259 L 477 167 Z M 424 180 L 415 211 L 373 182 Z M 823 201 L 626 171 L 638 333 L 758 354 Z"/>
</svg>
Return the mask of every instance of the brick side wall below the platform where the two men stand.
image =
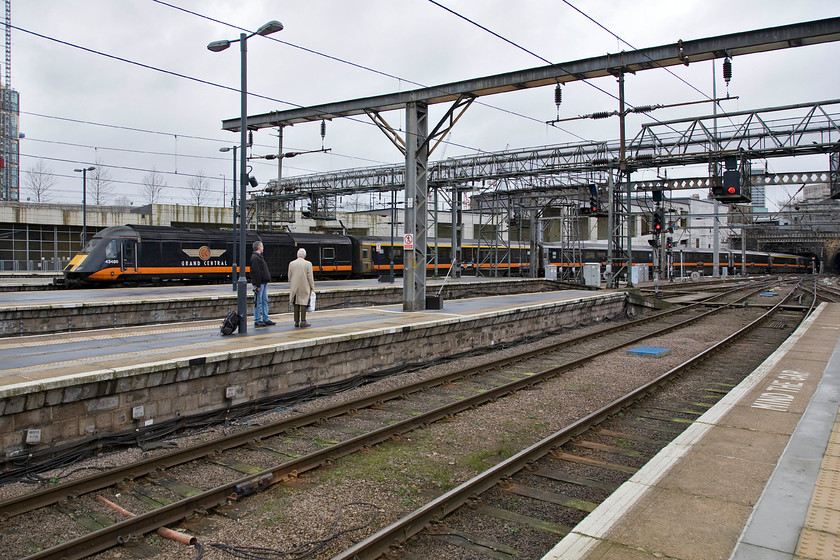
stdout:
<svg viewBox="0 0 840 560">
<path fill-rule="evenodd" d="M 625 294 L 375 329 L 301 342 L 102 370 L 6 388 L 0 393 L 0 443 L 7 456 L 95 434 L 140 428 L 177 416 L 430 361 L 574 327 L 624 313 Z M 142 418 L 134 419 L 136 407 Z M 27 430 L 41 443 L 27 445 Z"/>
</svg>

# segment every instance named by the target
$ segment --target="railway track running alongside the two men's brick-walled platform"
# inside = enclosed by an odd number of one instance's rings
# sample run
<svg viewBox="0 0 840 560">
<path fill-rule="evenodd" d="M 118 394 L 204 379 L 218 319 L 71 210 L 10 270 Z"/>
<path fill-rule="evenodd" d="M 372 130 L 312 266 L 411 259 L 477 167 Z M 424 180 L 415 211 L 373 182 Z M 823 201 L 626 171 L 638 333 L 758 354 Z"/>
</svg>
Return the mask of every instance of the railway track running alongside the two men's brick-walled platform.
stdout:
<svg viewBox="0 0 840 560">
<path fill-rule="evenodd" d="M 768 286 L 762 284 L 751 287 L 747 294 L 736 295 L 733 290 L 715 299 L 731 299 L 727 305 L 738 306 L 746 298 L 766 289 Z M 530 355 L 500 362 L 488 361 L 471 370 L 357 399 L 270 426 L 255 427 L 206 445 L 179 449 L 128 467 L 112 469 L 102 475 L 57 484 L 0 503 L 0 517 L 4 519 L 4 527 L 10 524 L 26 526 L 27 515 L 35 510 L 38 510 L 36 517 L 42 523 L 47 510 L 50 515 L 62 520 L 74 518 L 74 524 L 76 520 L 81 520 L 88 533 L 76 538 L 68 538 L 66 534 L 60 537 L 53 535 L 63 542 L 34 545 L 43 550 L 35 551 L 27 558 L 83 558 L 125 542 L 127 536 L 136 538 L 190 517 L 196 510 L 209 510 L 236 502 L 243 496 L 292 480 L 303 472 L 396 435 L 452 418 L 482 403 L 532 387 L 617 347 L 696 324 L 729 309 L 719 302 L 715 303 L 699 302 L 627 325 L 601 329 L 585 337 L 575 337 Z M 759 313 L 757 310 L 754 312 L 756 315 Z M 630 331 L 632 334 L 626 334 Z M 528 373 L 512 372 L 512 364 L 517 366 L 518 372 Z M 360 418 L 359 411 L 363 410 L 365 417 Z M 400 417 L 402 419 L 398 419 Z M 290 439 L 290 434 L 294 438 Z M 179 470 L 195 469 L 198 464 L 208 469 L 208 482 L 215 480 L 220 483 L 202 489 L 178 481 Z M 231 473 L 238 473 L 238 476 Z M 132 510 L 137 515 L 126 520 L 115 519 L 109 508 L 96 499 L 95 492 L 108 494 L 112 501 L 117 495 L 131 495 Z M 68 501 L 67 497 L 71 499 Z"/>
</svg>

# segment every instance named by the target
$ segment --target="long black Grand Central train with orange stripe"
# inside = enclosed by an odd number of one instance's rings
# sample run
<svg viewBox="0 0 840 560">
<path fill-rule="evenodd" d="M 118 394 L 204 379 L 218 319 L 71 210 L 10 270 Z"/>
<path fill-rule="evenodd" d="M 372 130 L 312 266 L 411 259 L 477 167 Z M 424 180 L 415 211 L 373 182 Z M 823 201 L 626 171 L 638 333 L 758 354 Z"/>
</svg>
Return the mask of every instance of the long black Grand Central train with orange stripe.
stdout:
<svg viewBox="0 0 840 560">
<path fill-rule="evenodd" d="M 246 263 L 251 258 L 253 242 L 258 239 L 265 246 L 263 255 L 276 281 L 286 279 L 289 263 L 295 259 L 300 247 L 306 249 L 313 272 L 321 279 L 372 278 L 388 274 L 392 266 L 397 274 L 401 274 L 403 269 L 401 239 L 391 244 L 390 240 L 378 237 L 248 231 Z M 603 246 L 584 244 L 582 263 L 563 262 L 565 252 L 557 244 L 542 244 L 538 253 L 535 260 L 539 275 L 549 265 L 579 267 L 583 263 L 597 262 L 602 272 L 606 269 L 606 249 Z M 223 282 L 230 280 L 238 254 L 238 248 L 234 251 L 234 234 L 231 231 L 115 226 L 94 235 L 84 250 L 64 268 L 64 278 L 68 286 L 164 281 Z M 427 254 L 427 271 L 445 275 L 452 262 L 451 242 L 429 240 Z M 712 273 L 711 251 L 675 249 L 670 254 L 677 276 L 692 272 Z M 729 274 L 741 272 L 740 251 L 722 250 L 719 254 L 722 270 Z M 464 240 L 460 260 L 467 274 L 525 274 L 530 272 L 531 248 L 527 243 L 519 242 L 502 248 Z M 651 251 L 634 250 L 633 262 L 652 266 Z M 810 258 L 798 255 L 748 251 L 746 263 L 748 274 L 811 272 Z"/>
</svg>

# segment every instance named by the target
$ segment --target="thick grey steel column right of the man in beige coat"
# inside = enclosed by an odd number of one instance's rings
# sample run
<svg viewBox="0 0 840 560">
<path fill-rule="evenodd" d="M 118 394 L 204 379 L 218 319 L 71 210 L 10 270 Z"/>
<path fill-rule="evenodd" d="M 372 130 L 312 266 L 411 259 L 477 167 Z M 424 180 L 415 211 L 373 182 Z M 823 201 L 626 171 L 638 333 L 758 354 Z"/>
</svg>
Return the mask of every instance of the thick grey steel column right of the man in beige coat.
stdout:
<svg viewBox="0 0 840 560">
<path fill-rule="evenodd" d="M 414 250 L 403 252 L 403 311 L 426 309 L 426 219 L 429 200 L 429 107 L 406 104 L 405 233 Z"/>
</svg>

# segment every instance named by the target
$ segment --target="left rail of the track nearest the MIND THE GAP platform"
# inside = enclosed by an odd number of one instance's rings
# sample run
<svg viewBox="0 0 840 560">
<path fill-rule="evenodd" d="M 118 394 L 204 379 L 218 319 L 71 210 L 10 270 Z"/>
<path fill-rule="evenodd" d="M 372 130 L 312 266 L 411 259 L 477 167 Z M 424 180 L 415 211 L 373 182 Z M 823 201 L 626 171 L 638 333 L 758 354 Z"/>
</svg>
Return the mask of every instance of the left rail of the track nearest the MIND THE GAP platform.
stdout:
<svg viewBox="0 0 840 560">
<path fill-rule="evenodd" d="M 707 348 L 682 364 L 668 370 L 656 379 L 638 387 L 624 397 L 616 399 L 610 404 L 570 424 L 568 427 L 552 434 L 551 436 L 548 436 L 547 438 L 544 438 L 509 459 L 502 461 L 496 466 L 487 469 L 478 476 L 464 482 L 457 488 L 450 490 L 428 504 L 401 517 L 399 520 L 371 535 L 367 539 L 360 541 L 341 554 L 334 556 L 332 560 L 374 560 L 387 553 L 392 548 L 401 546 L 401 544 L 407 541 L 410 537 L 424 530 L 430 524 L 439 521 L 459 507 L 467 504 L 481 493 L 495 486 L 500 480 L 514 475 L 525 468 L 528 464 L 539 460 L 557 447 L 568 443 L 572 438 L 586 432 L 592 426 L 597 425 L 606 420 L 608 417 L 624 410 L 628 406 L 656 390 L 664 383 L 671 381 L 676 376 L 697 365 L 714 352 L 728 346 L 737 338 L 746 335 L 755 329 L 760 323 L 765 321 L 770 315 L 776 313 L 782 304 L 791 297 L 792 293 L 793 292 L 791 291 L 790 294 L 788 294 L 782 301 L 766 313 L 762 314 L 761 317 L 752 321 L 717 344 Z"/>
</svg>

